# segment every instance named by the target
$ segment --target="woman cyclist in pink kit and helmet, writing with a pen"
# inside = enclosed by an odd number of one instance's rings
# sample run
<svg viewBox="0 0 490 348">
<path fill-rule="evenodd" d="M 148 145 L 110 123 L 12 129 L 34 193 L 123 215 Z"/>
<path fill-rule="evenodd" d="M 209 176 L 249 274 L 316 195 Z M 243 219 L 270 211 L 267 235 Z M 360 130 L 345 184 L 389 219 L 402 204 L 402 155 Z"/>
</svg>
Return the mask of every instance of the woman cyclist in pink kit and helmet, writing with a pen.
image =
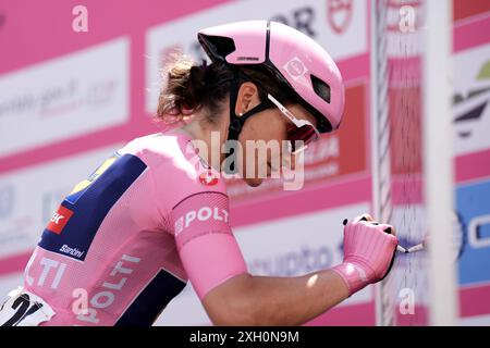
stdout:
<svg viewBox="0 0 490 348">
<path fill-rule="evenodd" d="M 247 273 L 220 176 L 232 151 L 221 146 L 285 141 L 279 156 L 294 158 L 339 127 L 344 86 L 330 55 L 283 24 L 232 23 L 198 40 L 211 64 L 173 62 L 159 98 L 158 117 L 185 122 L 134 139 L 64 198 L 2 325 L 151 325 L 187 281 L 217 325 L 297 325 L 389 272 L 394 229 L 364 215 L 345 222 L 344 261 L 330 270 Z M 250 186 L 262 176 L 248 166 L 277 170 L 269 152 L 234 154 Z"/>
</svg>

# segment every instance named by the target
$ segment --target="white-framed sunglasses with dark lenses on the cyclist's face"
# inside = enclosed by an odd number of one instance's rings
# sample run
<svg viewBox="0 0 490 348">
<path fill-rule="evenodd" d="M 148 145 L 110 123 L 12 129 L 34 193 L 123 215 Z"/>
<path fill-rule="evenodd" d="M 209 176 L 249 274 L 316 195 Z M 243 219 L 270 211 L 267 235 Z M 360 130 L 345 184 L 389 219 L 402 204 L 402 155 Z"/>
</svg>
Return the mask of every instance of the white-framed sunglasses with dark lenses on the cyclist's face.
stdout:
<svg viewBox="0 0 490 348">
<path fill-rule="evenodd" d="M 308 121 L 296 119 L 291 111 L 281 104 L 274 97 L 267 95 L 267 98 L 281 111 L 281 113 L 292 122 L 287 125 L 287 140 L 290 153 L 295 154 L 304 151 L 308 144 L 318 140 L 320 133 Z"/>
</svg>

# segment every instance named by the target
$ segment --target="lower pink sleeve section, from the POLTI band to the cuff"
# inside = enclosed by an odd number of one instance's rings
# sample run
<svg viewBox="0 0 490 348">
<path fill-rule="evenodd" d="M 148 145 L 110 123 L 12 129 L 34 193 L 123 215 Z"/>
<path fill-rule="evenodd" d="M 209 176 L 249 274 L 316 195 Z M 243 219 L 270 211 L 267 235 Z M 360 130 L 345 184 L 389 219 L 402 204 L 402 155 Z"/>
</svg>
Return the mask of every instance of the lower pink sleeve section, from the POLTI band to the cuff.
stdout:
<svg viewBox="0 0 490 348">
<path fill-rule="evenodd" d="M 247 272 L 229 225 L 229 202 L 223 192 L 191 195 L 172 209 L 171 217 L 181 261 L 200 299 L 226 279 Z"/>
</svg>

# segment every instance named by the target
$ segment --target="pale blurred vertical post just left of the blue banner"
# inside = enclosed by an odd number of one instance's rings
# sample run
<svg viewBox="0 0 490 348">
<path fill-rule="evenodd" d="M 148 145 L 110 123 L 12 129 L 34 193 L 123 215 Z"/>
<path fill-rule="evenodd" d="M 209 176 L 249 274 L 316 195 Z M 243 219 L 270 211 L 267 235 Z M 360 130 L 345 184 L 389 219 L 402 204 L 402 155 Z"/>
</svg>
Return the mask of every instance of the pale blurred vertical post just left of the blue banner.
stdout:
<svg viewBox="0 0 490 348">
<path fill-rule="evenodd" d="M 452 250 L 454 208 L 452 151 L 452 1 L 425 1 L 424 166 L 428 211 L 431 325 L 457 323 Z"/>
</svg>

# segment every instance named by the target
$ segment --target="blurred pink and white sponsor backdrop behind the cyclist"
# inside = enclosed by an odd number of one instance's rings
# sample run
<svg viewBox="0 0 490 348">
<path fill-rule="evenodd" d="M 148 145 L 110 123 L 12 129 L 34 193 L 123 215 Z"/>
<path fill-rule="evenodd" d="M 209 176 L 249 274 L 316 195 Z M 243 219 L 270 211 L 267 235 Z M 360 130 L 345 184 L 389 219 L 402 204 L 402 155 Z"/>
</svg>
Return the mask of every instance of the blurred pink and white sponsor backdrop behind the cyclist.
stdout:
<svg viewBox="0 0 490 348">
<path fill-rule="evenodd" d="M 402 5 L 418 3 L 389 2 L 395 18 Z M 462 236 L 460 323 L 490 325 L 490 1 L 454 0 L 453 10 L 454 114 L 448 116 L 454 125 L 456 233 Z M 1 298 L 21 284 L 64 195 L 126 141 L 159 132 L 151 116 L 169 54 L 182 51 L 200 64 L 197 30 L 241 20 L 279 21 L 309 35 L 332 54 L 346 83 L 345 122 L 308 148 L 302 190 L 283 191 L 279 181 L 258 188 L 230 181 L 231 223 L 249 271 L 292 276 L 342 260 L 343 219 L 372 210 L 370 1 L 3 0 Z M 395 29 L 387 30 L 389 47 L 404 35 L 397 21 L 390 25 Z M 396 90 L 390 98 L 396 104 Z M 420 108 L 419 100 L 411 101 Z M 412 170 L 421 165 L 417 153 L 403 152 L 415 161 Z M 368 287 L 309 324 L 375 323 Z M 188 285 L 157 325 L 193 324 L 209 320 Z"/>
</svg>

